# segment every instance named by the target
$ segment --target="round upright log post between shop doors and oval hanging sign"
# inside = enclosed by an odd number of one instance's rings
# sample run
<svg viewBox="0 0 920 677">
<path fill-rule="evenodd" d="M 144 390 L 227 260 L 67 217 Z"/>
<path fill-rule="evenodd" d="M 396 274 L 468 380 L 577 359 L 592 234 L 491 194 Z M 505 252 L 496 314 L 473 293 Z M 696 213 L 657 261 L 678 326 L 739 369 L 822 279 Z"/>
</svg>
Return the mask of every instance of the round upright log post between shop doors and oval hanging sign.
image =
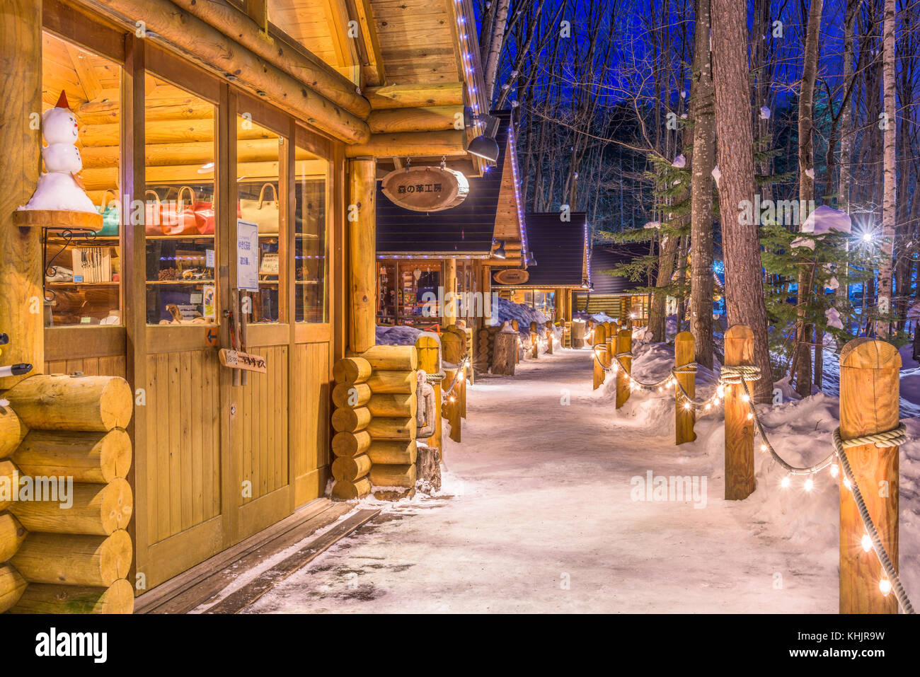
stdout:
<svg viewBox="0 0 920 677">
<path fill-rule="evenodd" d="M 374 197 L 377 189 L 374 158 L 349 160 L 348 218 L 349 348 L 361 353 L 374 346 L 376 339 L 376 264 L 377 236 Z M 352 221 L 352 219 L 354 219 Z"/>
</svg>

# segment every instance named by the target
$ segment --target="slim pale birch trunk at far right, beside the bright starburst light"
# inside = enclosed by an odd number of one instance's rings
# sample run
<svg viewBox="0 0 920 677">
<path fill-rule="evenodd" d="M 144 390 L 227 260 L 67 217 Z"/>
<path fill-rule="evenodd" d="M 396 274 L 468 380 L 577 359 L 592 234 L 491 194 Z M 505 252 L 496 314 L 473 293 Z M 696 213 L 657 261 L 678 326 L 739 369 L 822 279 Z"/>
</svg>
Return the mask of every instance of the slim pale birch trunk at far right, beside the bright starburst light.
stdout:
<svg viewBox="0 0 920 677">
<path fill-rule="evenodd" d="M 891 270 L 893 267 L 894 225 L 897 220 L 897 186 L 895 184 L 894 145 L 895 123 L 894 81 L 894 0 L 885 0 L 885 23 L 882 33 L 882 106 L 885 116 L 882 129 L 884 165 L 882 170 L 883 196 L 881 202 L 881 242 L 879 264 L 879 312 L 875 326 L 876 338 L 888 338 L 891 333 Z"/>
</svg>

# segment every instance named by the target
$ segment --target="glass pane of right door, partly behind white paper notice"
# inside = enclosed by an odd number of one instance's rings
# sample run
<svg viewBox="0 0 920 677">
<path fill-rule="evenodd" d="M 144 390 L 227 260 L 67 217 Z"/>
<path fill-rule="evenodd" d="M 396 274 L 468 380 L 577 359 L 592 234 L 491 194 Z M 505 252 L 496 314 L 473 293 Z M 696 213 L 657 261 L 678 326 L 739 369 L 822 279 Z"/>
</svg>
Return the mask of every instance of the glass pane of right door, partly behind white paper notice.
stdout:
<svg viewBox="0 0 920 677">
<path fill-rule="evenodd" d="M 255 224 L 258 234 L 256 256 L 252 259 L 255 288 L 245 289 L 238 280 L 247 322 L 281 322 L 282 281 L 286 280 L 284 224 L 282 214 L 287 201 L 279 181 L 282 162 L 282 137 L 252 120 L 251 115 L 236 119 L 237 217 L 244 224 Z M 239 230 L 237 236 L 242 236 Z M 248 299 L 248 303 L 247 303 Z"/>
</svg>

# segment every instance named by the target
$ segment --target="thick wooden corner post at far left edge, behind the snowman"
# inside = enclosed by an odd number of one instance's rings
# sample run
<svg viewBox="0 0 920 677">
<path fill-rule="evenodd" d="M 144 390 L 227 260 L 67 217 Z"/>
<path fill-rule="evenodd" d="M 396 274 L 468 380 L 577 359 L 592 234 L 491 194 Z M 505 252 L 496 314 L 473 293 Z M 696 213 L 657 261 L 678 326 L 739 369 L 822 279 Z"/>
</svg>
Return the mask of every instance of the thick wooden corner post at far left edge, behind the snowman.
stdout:
<svg viewBox="0 0 920 677">
<path fill-rule="evenodd" d="M 39 181 L 41 132 L 41 0 L 9 0 L 0 11 L 0 332 L 9 335 L 3 364 L 44 371 L 41 229 L 13 225 L 13 212 Z M 25 375 L 0 378 L 0 391 Z"/>
</svg>

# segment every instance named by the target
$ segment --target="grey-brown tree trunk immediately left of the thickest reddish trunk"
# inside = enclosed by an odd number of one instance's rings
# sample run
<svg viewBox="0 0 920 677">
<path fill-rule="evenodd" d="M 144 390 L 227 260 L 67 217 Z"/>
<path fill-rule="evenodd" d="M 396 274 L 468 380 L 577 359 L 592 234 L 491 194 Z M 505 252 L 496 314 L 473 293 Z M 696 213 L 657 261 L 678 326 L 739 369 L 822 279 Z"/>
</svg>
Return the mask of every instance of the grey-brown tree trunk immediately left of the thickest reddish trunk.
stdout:
<svg viewBox="0 0 920 677">
<path fill-rule="evenodd" d="M 710 0 L 697 0 L 694 36 L 693 159 L 690 177 L 690 332 L 696 361 L 712 368 L 712 169 L 716 165 Z"/>
</svg>

